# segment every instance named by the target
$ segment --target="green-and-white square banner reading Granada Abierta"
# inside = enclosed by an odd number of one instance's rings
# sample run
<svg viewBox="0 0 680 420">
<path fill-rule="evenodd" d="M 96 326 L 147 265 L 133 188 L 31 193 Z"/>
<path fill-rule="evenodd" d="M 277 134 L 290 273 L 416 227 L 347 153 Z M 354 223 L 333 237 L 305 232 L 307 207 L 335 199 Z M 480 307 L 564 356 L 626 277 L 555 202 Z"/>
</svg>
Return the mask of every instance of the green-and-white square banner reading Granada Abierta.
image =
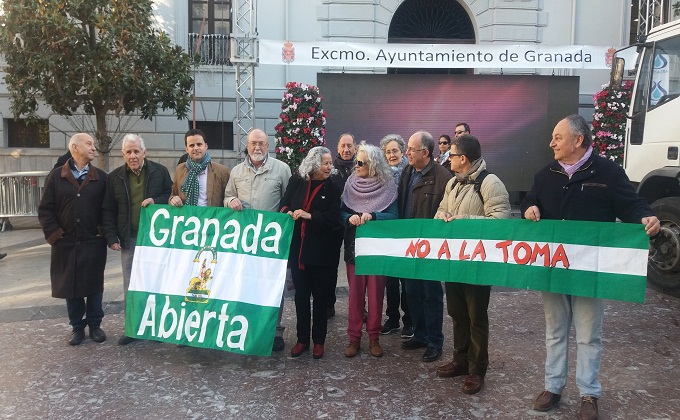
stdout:
<svg viewBox="0 0 680 420">
<path fill-rule="evenodd" d="M 286 214 L 142 208 L 125 335 L 268 356 L 292 233 Z"/>
</svg>

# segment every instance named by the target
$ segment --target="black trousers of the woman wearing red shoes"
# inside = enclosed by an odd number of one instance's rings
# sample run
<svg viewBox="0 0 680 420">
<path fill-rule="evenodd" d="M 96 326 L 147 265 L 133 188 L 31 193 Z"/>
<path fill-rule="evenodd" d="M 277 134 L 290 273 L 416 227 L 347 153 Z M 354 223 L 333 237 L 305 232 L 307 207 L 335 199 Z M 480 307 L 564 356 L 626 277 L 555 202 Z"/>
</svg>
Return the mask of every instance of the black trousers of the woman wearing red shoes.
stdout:
<svg viewBox="0 0 680 420">
<path fill-rule="evenodd" d="M 297 341 L 298 343 L 309 343 L 309 332 L 311 330 L 314 344 L 324 344 L 328 330 L 326 310 L 331 295 L 335 294 L 333 277 L 335 276 L 335 281 L 337 281 L 338 268 L 305 265 L 304 270 L 295 266 L 290 271 L 295 285 Z M 314 299 L 313 309 L 310 297 Z"/>
</svg>

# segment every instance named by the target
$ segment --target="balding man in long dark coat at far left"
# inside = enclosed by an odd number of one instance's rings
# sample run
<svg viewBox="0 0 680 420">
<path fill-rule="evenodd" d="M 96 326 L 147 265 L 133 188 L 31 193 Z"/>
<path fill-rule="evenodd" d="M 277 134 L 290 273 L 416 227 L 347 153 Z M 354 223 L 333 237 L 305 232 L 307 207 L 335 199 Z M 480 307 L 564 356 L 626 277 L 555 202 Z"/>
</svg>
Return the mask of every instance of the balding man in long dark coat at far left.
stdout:
<svg viewBox="0 0 680 420">
<path fill-rule="evenodd" d="M 106 239 L 101 207 L 106 172 L 90 164 L 96 152 L 90 135 L 75 134 L 68 147 L 72 158 L 47 176 L 38 220 L 52 246 L 52 296 L 66 299 L 73 328 L 68 343 L 77 346 L 85 338 L 85 326 L 93 341 L 106 340 L 100 327 L 104 318 Z"/>
</svg>

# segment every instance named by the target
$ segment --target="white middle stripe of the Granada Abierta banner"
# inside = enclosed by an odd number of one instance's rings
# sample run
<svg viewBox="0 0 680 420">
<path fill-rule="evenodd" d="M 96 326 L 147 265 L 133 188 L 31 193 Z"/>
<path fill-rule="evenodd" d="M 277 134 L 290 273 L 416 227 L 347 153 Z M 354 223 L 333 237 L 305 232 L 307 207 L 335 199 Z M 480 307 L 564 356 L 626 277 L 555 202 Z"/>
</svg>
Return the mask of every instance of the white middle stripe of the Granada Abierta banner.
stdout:
<svg viewBox="0 0 680 420">
<path fill-rule="evenodd" d="M 143 251 L 143 252 L 142 252 Z M 207 283 L 210 299 L 239 301 L 279 307 L 286 277 L 286 260 L 245 254 L 204 253 L 194 262 L 196 251 L 137 246 L 132 264 L 130 290 L 183 296 L 192 278 L 200 277 L 203 261 L 212 279 Z M 189 274 L 185 274 L 189 273 Z M 248 283 L 240 279 L 248 279 Z M 174 279 L 173 281 L 167 281 Z"/>
</svg>

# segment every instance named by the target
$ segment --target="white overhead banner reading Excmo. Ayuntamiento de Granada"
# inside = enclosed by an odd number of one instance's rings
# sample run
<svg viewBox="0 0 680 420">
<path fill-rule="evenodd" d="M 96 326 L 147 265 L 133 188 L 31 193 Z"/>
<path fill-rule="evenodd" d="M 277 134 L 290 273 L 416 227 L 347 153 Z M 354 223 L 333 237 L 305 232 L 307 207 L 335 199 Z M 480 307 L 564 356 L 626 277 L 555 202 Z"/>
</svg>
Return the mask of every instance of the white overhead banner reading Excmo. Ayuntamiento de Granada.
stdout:
<svg viewBox="0 0 680 420">
<path fill-rule="evenodd" d="M 380 44 L 261 39 L 259 63 L 357 68 L 608 69 L 617 46 L 537 44 Z M 636 52 L 624 51 L 626 63 Z"/>
</svg>

